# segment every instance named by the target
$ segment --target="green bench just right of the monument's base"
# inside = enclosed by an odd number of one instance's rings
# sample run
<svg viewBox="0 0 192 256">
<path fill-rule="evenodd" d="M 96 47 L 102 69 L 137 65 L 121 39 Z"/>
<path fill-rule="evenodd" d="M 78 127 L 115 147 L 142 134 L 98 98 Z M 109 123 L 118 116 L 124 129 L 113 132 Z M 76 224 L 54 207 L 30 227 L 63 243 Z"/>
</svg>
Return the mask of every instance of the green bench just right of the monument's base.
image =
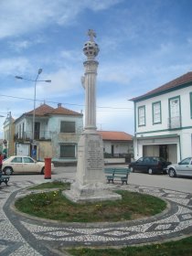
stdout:
<svg viewBox="0 0 192 256">
<path fill-rule="evenodd" d="M 122 185 L 127 184 L 128 176 L 131 173 L 129 168 L 104 168 L 104 173 L 108 183 L 114 183 L 114 180 L 121 180 Z"/>
</svg>

